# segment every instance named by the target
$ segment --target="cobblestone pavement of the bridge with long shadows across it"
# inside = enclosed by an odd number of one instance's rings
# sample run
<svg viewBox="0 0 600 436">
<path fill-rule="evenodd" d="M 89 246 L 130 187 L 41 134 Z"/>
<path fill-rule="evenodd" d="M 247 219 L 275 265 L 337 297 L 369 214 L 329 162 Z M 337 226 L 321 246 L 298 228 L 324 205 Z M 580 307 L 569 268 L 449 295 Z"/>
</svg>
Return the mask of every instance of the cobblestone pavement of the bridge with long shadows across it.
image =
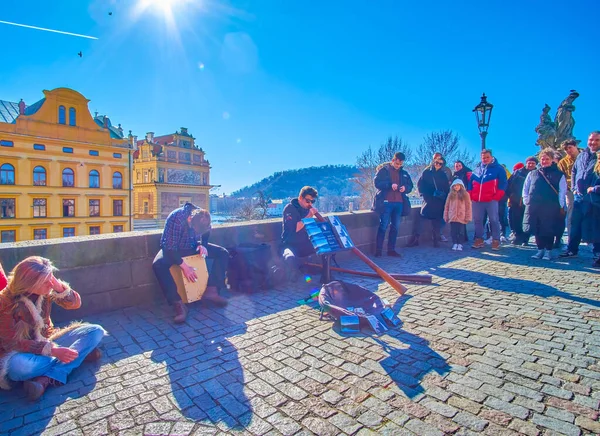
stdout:
<svg viewBox="0 0 600 436">
<path fill-rule="evenodd" d="M 110 333 L 102 361 L 35 404 L 1 393 L 0 433 L 598 434 L 599 276 L 589 253 L 533 252 L 404 249 L 378 262 L 434 283 L 399 299 L 340 276 L 395 302 L 403 326 L 378 337 L 298 305 L 307 283 L 194 305 L 181 327 L 165 307 L 90 318 Z"/>
</svg>

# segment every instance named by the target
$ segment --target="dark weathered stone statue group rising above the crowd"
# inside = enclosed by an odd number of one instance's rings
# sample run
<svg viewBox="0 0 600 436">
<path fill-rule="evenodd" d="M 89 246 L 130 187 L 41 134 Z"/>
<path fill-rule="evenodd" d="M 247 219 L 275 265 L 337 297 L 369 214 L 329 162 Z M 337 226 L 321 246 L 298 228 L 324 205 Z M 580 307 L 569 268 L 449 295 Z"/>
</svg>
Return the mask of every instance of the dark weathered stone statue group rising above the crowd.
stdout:
<svg viewBox="0 0 600 436">
<path fill-rule="evenodd" d="M 537 145 L 541 148 L 551 147 L 559 150 L 561 142 L 566 139 L 575 139 L 573 136 L 573 127 L 575 127 L 575 119 L 573 118 L 575 106 L 573 102 L 577 97 L 579 97 L 579 93 L 572 89 L 568 97 L 558 107 L 554 122 L 550 118 L 550 106 L 544 105 L 542 115 L 540 115 L 540 123 L 535 128 L 538 134 Z"/>
</svg>

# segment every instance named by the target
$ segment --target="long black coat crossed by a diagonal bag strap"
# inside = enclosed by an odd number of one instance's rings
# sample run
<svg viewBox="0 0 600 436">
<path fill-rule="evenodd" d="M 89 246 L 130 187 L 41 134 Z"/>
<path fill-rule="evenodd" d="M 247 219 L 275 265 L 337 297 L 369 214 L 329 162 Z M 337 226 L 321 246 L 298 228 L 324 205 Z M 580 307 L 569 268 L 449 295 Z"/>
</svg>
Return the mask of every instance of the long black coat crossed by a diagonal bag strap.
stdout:
<svg viewBox="0 0 600 436">
<path fill-rule="evenodd" d="M 560 212 L 558 194 L 541 176 L 541 171 L 556 191 L 560 190 L 560 179 L 564 177 L 555 163 L 529 173 L 529 204 L 525 206 L 523 230 L 537 236 L 555 236 L 564 229 L 565 217 Z"/>
</svg>

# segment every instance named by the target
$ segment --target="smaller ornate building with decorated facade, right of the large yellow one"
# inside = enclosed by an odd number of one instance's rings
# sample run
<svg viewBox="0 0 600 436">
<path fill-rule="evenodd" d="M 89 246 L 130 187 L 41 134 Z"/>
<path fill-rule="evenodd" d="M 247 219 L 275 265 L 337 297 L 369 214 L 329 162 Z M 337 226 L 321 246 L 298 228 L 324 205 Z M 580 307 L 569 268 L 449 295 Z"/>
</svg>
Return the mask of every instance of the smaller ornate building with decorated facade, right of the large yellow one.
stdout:
<svg viewBox="0 0 600 436">
<path fill-rule="evenodd" d="M 134 217 L 162 221 L 189 201 L 208 209 L 210 165 L 185 127 L 171 135 L 135 141 L 133 153 Z"/>
</svg>

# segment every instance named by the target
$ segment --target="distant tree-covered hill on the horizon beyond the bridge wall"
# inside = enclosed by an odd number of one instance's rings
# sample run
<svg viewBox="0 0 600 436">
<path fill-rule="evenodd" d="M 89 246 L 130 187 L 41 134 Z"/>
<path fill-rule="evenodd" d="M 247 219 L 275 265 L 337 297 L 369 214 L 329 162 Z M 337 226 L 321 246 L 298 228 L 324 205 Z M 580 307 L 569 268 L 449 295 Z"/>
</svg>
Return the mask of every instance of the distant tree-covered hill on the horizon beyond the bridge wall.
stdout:
<svg viewBox="0 0 600 436">
<path fill-rule="evenodd" d="M 296 197 L 300 188 L 314 186 L 320 196 L 358 195 L 352 183 L 357 172 L 351 165 L 325 165 L 322 167 L 301 168 L 281 171 L 232 193 L 233 197 L 254 197 L 263 191 L 271 198 Z"/>
</svg>

